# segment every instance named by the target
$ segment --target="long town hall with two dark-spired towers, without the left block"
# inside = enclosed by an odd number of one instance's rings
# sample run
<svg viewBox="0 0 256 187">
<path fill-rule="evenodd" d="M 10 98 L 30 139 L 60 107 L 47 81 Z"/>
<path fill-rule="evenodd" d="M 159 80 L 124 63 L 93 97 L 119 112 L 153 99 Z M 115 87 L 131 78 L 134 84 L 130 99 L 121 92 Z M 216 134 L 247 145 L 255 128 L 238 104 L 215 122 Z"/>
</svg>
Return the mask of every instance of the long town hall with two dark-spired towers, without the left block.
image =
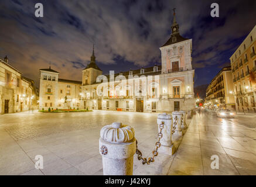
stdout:
<svg viewBox="0 0 256 187">
<path fill-rule="evenodd" d="M 180 36 L 175 14 L 172 34 L 160 50 L 162 65 L 112 75 L 115 80 L 128 79 L 122 88 L 121 81 L 111 81 L 110 75 L 106 75 L 105 81 L 108 84 L 103 86 L 102 96 L 97 94 L 97 87 L 101 83 L 96 78 L 103 71 L 95 63 L 93 50 L 90 64 L 83 70 L 81 106 L 88 109 L 130 112 L 193 110 L 195 100 L 192 39 Z"/>
</svg>

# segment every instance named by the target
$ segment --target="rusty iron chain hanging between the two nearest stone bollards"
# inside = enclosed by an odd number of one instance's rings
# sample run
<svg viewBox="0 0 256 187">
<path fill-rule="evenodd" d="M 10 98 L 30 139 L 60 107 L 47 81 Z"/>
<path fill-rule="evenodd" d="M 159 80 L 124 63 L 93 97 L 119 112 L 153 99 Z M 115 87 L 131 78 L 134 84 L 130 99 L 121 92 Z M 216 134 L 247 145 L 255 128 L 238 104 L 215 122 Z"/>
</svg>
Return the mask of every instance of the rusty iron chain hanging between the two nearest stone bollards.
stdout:
<svg viewBox="0 0 256 187">
<path fill-rule="evenodd" d="M 138 150 L 138 141 L 136 140 L 136 154 L 138 154 L 138 160 L 142 160 L 142 164 L 150 164 L 151 162 L 154 162 L 154 158 L 157 157 L 158 155 L 158 148 L 161 146 L 161 143 L 160 143 L 160 140 L 161 138 L 163 137 L 163 134 L 162 134 L 162 130 L 163 130 L 163 127 L 164 127 L 164 124 L 165 122 L 162 122 L 161 124 L 159 124 L 159 128 L 160 128 L 160 132 L 158 133 L 158 141 L 156 141 L 156 148 L 155 150 L 152 151 L 152 154 L 153 154 L 153 157 L 151 158 L 143 158 L 142 157 L 142 153 L 141 151 Z"/>
</svg>

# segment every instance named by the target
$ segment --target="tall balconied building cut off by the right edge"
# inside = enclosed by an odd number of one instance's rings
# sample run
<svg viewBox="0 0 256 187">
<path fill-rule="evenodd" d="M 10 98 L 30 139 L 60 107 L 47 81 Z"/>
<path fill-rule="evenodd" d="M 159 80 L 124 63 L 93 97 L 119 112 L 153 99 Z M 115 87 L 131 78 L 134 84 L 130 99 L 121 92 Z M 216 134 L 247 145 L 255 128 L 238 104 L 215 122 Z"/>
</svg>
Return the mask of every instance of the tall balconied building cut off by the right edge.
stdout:
<svg viewBox="0 0 256 187">
<path fill-rule="evenodd" d="M 239 112 L 256 112 L 256 25 L 230 57 L 235 107 Z"/>
</svg>

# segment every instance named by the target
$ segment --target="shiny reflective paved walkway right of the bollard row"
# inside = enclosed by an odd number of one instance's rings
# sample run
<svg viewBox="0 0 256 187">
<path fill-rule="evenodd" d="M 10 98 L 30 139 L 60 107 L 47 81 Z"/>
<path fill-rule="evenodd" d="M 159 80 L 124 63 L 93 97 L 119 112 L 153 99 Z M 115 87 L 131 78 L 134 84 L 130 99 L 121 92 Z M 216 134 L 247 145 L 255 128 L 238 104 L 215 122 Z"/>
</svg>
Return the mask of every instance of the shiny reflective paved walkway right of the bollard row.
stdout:
<svg viewBox="0 0 256 187">
<path fill-rule="evenodd" d="M 197 114 L 180 143 L 168 175 L 256 175 L 256 131 Z M 211 156 L 219 169 L 211 169 Z"/>
</svg>

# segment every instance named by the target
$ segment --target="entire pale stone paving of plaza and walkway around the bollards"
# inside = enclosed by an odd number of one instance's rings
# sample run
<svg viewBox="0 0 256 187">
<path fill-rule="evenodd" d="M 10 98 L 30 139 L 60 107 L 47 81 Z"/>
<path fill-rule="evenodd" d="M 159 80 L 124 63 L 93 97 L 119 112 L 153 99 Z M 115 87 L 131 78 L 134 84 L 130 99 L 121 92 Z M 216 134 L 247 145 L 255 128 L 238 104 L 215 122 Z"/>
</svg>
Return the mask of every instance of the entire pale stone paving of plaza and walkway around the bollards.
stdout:
<svg viewBox="0 0 256 187">
<path fill-rule="evenodd" d="M 112 111 L 2 115 L 0 175 L 102 175 L 101 127 L 112 122 L 134 127 L 138 148 L 148 157 L 158 133 L 157 115 Z M 197 114 L 183 138 L 173 137 L 176 147 L 180 145 L 176 154 L 159 154 L 151 165 L 142 165 L 135 155 L 134 175 L 255 175 L 256 131 L 238 123 L 239 119 Z M 220 169 L 210 168 L 213 154 L 220 157 Z M 43 169 L 35 169 L 35 155 L 43 155 Z"/>
</svg>

